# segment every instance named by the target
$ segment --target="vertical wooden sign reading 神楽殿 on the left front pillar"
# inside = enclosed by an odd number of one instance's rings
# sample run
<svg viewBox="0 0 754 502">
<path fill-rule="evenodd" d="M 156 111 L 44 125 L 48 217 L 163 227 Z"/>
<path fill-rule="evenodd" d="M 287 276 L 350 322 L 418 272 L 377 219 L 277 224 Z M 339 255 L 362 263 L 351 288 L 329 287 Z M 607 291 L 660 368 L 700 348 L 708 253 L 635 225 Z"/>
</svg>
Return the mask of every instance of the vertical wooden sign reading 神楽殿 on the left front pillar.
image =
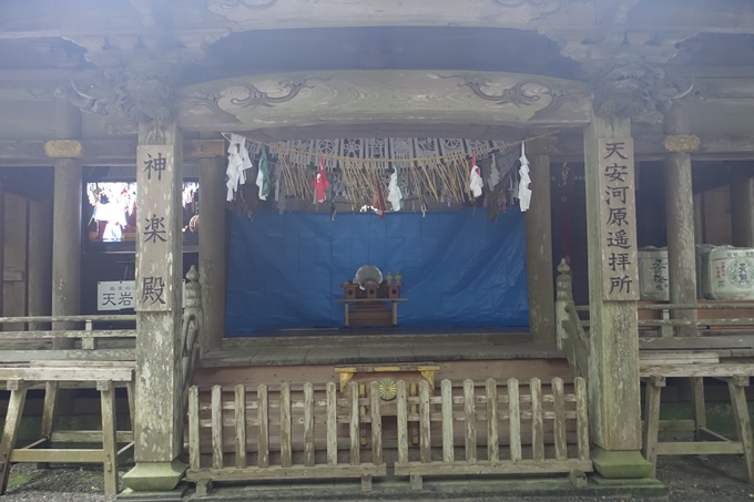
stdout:
<svg viewBox="0 0 754 502">
<path fill-rule="evenodd" d="M 176 217 L 175 165 L 171 145 L 139 145 L 136 160 L 136 291 L 137 311 L 173 308 L 172 235 Z"/>
</svg>

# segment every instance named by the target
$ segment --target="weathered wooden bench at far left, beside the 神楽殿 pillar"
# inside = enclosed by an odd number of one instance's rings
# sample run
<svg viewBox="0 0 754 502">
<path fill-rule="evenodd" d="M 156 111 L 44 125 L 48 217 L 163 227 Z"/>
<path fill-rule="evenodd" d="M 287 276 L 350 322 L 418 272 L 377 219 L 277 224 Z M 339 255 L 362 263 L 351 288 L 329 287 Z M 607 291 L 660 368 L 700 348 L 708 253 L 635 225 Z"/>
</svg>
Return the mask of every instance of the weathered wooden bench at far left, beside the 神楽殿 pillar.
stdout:
<svg viewBox="0 0 754 502">
<path fill-rule="evenodd" d="M 133 413 L 134 362 L 80 362 L 80 361 L 31 361 L 27 367 L 0 368 L 0 380 L 11 391 L 6 424 L 0 440 L 0 494 L 6 492 L 10 465 L 16 462 L 35 462 L 45 467 L 48 462 L 102 463 L 104 468 L 104 491 L 118 493 L 118 465 L 133 454 L 133 431 L 116 431 L 115 386 L 125 385 L 129 390 L 129 408 Z M 65 383 L 94 383 L 102 402 L 101 431 L 53 431 L 54 409 L 58 390 Z M 17 448 L 27 390 L 44 386 L 44 409 L 42 412 L 41 438 L 31 444 Z M 131 416 L 133 427 L 133 414 Z M 101 442 L 100 449 L 54 449 L 51 443 Z M 119 443 L 126 443 L 120 450 Z"/>
</svg>

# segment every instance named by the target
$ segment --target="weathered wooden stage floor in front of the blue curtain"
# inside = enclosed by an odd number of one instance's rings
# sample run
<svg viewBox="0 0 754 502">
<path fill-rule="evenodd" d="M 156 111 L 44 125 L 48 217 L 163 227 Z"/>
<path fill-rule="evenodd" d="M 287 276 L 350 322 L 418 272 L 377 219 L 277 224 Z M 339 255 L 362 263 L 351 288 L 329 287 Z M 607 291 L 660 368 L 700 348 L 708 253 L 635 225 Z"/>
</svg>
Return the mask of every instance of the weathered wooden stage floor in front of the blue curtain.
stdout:
<svg viewBox="0 0 754 502">
<path fill-rule="evenodd" d="M 501 359 L 564 359 L 520 328 L 353 328 L 284 330 L 226 337 L 201 368 L 350 365 Z M 554 338 L 554 337 L 553 337 Z"/>
</svg>

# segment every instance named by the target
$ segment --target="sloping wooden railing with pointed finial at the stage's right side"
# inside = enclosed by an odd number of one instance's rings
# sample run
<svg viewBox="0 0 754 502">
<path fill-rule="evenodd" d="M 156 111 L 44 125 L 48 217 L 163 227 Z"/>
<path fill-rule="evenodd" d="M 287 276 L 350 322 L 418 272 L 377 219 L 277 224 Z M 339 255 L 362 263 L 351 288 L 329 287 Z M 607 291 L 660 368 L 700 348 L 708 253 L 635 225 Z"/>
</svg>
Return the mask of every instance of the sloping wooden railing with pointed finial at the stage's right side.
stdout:
<svg viewBox="0 0 754 502">
<path fill-rule="evenodd" d="M 558 265 L 557 296 L 556 296 L 556 332 L 558 348 L 566 352 L 568 363 L 573 372 L 587 378 L 589 372 L 589 335 L 584 331 L 573 303 L 571 268 L 566 260 Z"/>
</svg>

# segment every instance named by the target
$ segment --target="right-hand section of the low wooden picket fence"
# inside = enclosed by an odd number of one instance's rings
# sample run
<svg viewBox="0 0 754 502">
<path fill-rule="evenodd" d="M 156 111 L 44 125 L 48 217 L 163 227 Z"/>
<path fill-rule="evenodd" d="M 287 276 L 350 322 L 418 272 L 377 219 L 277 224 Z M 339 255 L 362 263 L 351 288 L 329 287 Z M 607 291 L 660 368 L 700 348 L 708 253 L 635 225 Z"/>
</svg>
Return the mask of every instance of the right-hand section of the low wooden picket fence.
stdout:
<svg viewBox="0 0 754 502">
<path fill-rule="evenodd" d="M 478 396 L 473 381 L 463 382 L 462 396 L 454 396 L 450 380 L 442 380 L 441 395 L 431 397 L 429 385 L 422 381 L 419 397 L 406 396 L 406 385 L 398 382 L 398 460 L 396 475 L 410 475 L 411 488 L 421 488 L 422 475 L 458 474 L 520 474 L 520 473 L 573 473 L 583 477 L 592 470 L 589 459 L 589 420 L 587 414 L 587 386 L 583 378 L 574 381 L 574 393 L 566 395 L 563 380 L 553 378 L 551 393 L 542 392 L 538 378 L 529 381 L 529 393 L 521 395 L 519 381 L 507 381 L 507 392 L 498 393 L 493 379 L 485 382 L 485 393 Z M 408 413 L 407 403 L 418 402 L 418 413 Z M 523 404 L 523 406 L 522 406 Z M 477 411 L 477 406 L 483 410 Z M 436 408 L 439 407 L 439 412 Z M 575 422 L 577 448 L 569 455 L 567 421 Z M 409 461 L 408 423 L 419 422 L 419 461 Z M 454 424 L 463 422 L 462 460 L 456 458 Z M 477 422 L 487 427 L 487 454 L 478 459 Z M 554 452 L 548 458 L 544 448 L 544 423 L 551 421 Z M 432 422 L 441 423 L 441 460 L 432 455 Z M 523 457 L 522 422 L 531 424 L 531 455 Z M 503 428 L 508 432 L 507 459 L 500 453 Z M 548 428 L 549 429 L 549 428 Z"/>
</svg>

